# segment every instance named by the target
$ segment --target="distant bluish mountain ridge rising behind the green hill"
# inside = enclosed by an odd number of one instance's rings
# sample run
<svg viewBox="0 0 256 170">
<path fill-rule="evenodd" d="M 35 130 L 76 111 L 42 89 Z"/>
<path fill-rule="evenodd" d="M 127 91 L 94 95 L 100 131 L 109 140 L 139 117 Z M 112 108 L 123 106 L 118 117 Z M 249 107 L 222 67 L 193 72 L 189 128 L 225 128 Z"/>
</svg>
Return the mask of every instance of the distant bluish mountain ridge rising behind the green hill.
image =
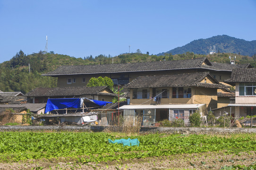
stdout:
<svg viewBox="0 0 256 170">
<path fill-rule="evenodd" d="M 198 39 L 188 44 L 177 47 L 167 52 L 162 52 L 157 54 L 158 56 L 163 55 L 164 53 L 183 54 L 186 52 L 193 52 L 195 54 L 207 55 L 210 52 L 210 47 L 215 45 L 216 52 L 224 53 L 240 53 L 245 56 L 254 56 L 256 55 L 256 40 L 246 41 L 243 39 L 238 39 L 235 37 L 230 37 L 228 35 L 217 35 L 211 38 Z"/>
</svg>

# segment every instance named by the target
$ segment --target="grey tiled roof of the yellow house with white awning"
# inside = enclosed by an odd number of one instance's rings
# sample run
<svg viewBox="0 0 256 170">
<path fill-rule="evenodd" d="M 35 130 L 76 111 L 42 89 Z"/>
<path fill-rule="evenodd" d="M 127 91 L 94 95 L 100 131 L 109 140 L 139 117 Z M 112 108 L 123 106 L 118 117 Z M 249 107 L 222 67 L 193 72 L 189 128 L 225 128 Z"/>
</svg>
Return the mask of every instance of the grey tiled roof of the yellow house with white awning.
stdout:
<svg viewBox="0 0 256 170">
<path fill-rule="evenodd" d="M 127 85 L 126 88 L 150 88 L 150 87 L 210 87 L 210 88 L 228 88 L 229 86 L 220 84 L 215 80 L 216 84 L 200 83 L 206 76 L 213 76 L 209 72 L 187 73 L 180 75 L 168 76 L 139 76 Z"/>
</svg>

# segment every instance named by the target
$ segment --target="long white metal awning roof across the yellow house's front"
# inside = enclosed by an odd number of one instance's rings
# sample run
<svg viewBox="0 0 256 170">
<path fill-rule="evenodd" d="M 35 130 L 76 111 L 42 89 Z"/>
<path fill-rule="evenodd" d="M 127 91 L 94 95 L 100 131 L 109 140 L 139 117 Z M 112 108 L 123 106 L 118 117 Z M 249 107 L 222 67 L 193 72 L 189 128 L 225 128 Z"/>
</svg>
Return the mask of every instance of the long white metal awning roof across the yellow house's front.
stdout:
<svg viewBox="0 0 256 170">
<path fill-rule="evenodd" d="M 205 104 L 124 105 L 119 109 L 196 109 Z"/>
</svg>

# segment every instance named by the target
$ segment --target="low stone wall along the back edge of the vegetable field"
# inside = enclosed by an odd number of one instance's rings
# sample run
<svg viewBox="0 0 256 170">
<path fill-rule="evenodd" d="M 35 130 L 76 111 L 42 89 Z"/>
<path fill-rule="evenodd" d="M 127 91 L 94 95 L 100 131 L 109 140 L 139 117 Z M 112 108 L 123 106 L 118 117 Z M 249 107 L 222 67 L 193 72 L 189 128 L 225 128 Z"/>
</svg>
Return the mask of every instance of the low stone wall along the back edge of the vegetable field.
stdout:
<svg viewBox="0 0 256 170">
<path fill-rule="evenodd" d="M 0 131 L 81 131 L 101 132 L 108 126 L 0 126 Z M 180 133 L 180 134 L 227 134 L 256 133 L 256 128 L 220 128 L 220 127 L 141 127 L 141 134 Z"/>
</svg>

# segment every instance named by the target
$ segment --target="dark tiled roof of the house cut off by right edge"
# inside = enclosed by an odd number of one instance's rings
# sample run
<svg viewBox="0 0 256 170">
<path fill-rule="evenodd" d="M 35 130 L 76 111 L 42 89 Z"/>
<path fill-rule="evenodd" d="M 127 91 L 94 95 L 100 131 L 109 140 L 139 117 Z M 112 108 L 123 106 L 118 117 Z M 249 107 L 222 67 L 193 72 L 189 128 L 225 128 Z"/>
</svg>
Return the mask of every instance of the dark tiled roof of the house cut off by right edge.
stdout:
<svg viewBox="0 0 256 170">
<path fill-rule="evenodd" d="M 234 85 L 235 83 L 256 83 L 256 68 L 234 69 L 230 79 L 224 82 L 230 85 Z"/>
</svg>

